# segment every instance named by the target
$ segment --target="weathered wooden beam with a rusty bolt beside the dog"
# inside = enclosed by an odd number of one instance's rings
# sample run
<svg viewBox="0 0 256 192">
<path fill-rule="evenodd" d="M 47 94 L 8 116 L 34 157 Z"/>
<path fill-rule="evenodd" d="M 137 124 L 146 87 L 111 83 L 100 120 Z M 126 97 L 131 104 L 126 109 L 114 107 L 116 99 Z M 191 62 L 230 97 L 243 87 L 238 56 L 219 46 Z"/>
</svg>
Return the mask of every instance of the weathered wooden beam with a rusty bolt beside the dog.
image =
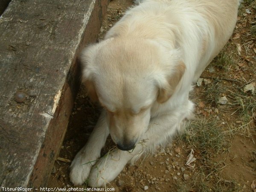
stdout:
<svg viewBox="0 0 256 192">
<path fill-rule="evenodd" d="M 47 183 L 79 85 L 76 56 L 106 6 L 12 0 L 0 17 L 0 187 Z"/>
</svg>

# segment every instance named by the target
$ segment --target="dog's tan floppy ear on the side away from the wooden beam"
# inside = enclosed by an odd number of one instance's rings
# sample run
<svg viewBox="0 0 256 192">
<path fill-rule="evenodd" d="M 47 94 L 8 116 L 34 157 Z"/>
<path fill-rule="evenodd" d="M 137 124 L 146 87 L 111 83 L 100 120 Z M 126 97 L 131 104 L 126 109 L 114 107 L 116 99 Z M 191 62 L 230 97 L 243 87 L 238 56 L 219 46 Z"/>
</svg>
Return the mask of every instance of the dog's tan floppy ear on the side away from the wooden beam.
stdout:
<svg viewBox="0 0 256 192">
<path fill-rule="evenodd" d="M 172 96 L 185 70 L 185 64 L 182 61 L 179 61 L 177 66 L 174 67 L 173 73 L 169 77 L 167 77 L 167 84 L 163 87 L 160 87 L 157 96 L 157 102 L 164 103 Z"/>
</svg>

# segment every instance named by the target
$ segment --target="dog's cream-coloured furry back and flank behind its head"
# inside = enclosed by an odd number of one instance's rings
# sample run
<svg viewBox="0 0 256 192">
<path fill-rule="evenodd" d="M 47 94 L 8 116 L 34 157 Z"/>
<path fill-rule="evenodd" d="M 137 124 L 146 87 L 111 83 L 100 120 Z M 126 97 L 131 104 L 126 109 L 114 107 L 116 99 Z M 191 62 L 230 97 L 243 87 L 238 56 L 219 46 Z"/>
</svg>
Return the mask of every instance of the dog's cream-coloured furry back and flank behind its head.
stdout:
<svg viewBox="0 0 256 192">
<path fill-rule="evenodd" d="M 107 33 L 181 49 L 194 80 L 232 35 L 239 0 L 143 0 Z"/>
</svg>

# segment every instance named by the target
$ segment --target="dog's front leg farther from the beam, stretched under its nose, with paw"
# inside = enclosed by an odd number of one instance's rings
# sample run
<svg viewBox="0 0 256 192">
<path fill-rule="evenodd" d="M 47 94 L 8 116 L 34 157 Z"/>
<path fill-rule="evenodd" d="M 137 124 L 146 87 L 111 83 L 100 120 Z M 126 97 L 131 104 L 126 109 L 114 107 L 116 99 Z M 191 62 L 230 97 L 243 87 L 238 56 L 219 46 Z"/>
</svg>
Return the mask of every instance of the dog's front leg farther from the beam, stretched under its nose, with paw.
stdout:
<svg viewBox="0 0 256 192">
<path fill-rule="evenodd" d="M 114 180 L 129 161 L 134 162 L 145 151 L 154 150 L 157 145 L 168 141 L 176 131 L 180 130 L 184 119 L 189 118 L 192 114 L 193 103 L 189 101 L 184 108 L 180 108 L 172 114 L 151 119 L 143 140 L 133 150 L 114 149 L 99 159 L 90 172 L 88 184 L 100 187 Z"/>
</svg>

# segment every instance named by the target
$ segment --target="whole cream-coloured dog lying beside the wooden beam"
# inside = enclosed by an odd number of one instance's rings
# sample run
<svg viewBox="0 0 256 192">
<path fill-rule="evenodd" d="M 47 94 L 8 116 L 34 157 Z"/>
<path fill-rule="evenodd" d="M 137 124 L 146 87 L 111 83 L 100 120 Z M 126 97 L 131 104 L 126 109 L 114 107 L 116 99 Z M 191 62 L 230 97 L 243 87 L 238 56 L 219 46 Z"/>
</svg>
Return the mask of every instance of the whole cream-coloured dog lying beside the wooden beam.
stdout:
<svg viewBox="0 0 256 192">
<path fill-rule="evenodd" d="M 72 162 L 74 184 L 110 182 L 182 127 L 193 113 L 192 83 L 232 35 L 238 6 L 239 0 L 144 0 L 84 50 L 83 80 L 105 109 Z M 98 160 L 109 134 L 121 150 Z"/>
</svg>

